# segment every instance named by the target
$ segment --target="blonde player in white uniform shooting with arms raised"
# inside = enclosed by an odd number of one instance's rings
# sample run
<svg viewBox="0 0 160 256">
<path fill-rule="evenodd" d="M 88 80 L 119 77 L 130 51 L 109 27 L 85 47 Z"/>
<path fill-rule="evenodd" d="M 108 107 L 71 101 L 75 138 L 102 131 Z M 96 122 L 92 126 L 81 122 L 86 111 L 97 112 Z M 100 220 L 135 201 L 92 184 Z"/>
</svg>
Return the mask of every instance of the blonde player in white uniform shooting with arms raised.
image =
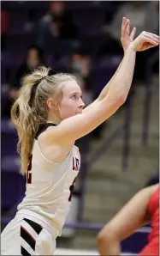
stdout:
<svg viewBox="0 0 160 256">
<path fill-rule="evenodd" d="M 123 25 L 127 29 L 128 21 Z M 74 142 L 126 101 L 136 52 L 157 46 L 159 37 L 143 32 L 131 41 L 115 76 L 86 109 L 73 76 L 51 75 L 43 67 L 24 78 L 11 118 L 19 135 L 21 174 L 27 174 L 27 190 L 15 218 L 3 230 L 3 255 L 54 253 L 80 169 Z"/>
</svg>

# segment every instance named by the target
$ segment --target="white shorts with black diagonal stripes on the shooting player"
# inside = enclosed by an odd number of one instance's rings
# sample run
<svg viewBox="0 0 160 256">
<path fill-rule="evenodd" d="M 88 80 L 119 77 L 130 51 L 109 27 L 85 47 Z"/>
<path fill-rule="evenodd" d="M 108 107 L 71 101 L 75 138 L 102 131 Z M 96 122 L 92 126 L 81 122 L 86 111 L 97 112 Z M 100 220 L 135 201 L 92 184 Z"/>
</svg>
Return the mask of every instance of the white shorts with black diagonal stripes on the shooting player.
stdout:
<svg viewBox="0 0 160 256">
<path fill-rule="evenodd" d="M 54 255 L 56 240 L 27 218 L 15 218 L 1 234 L 1 255 Z"/>
</svg>

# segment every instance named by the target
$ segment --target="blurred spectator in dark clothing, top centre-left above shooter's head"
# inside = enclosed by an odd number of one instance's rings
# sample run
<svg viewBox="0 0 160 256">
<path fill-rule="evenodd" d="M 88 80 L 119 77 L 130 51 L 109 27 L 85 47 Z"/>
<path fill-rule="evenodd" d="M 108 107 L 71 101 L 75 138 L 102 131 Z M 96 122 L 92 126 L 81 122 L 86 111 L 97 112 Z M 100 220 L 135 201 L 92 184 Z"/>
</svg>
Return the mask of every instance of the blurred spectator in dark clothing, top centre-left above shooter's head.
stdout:
<svg viewBox="0 0 160 256">
<path fill-rule="evenodd" d="M 66 11 L 65 3 L 51 1 L 49 12 L 39 21 L 36 44 L 47 48 L 56 39 L 76 40 L 78 38 L 78 28 L 72 21 L 71 13 Z"/>
</svg>

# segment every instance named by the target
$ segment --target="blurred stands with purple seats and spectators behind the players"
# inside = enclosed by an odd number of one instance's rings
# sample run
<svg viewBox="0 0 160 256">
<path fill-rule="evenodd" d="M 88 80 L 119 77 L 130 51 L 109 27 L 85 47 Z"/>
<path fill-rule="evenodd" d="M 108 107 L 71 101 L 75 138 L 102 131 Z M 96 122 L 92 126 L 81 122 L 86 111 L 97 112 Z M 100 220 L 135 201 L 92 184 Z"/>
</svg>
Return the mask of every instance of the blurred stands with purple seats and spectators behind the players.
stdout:
<svg viewBox="0 0 160 256">
<path fill-rule="evenodd" d="M 86 106 L 96 99 L 123 57 L 121 20 L 159 34 L 158 1 L 2 1 L 2 229 L 24 197 L 17 135 L 10 107 L 21 77 L 44 64 L 74 74 Z M 144 186 L 159 181 L 159 49 L 138 52 L 127 102 L 90 135 L 77 141 L 81 168 L 71 209 L 57 248 L 60 254 L 96 253 L 104 223 Z M 138 253 L 150 226 L 122 242 L 122 253 Z M 67 251 L 67 248 L 79 251 Z M 59 251 L 56 251 L 58 253 Z M 92 250 L 92 252 L 91 252 Z"/>
</svg>

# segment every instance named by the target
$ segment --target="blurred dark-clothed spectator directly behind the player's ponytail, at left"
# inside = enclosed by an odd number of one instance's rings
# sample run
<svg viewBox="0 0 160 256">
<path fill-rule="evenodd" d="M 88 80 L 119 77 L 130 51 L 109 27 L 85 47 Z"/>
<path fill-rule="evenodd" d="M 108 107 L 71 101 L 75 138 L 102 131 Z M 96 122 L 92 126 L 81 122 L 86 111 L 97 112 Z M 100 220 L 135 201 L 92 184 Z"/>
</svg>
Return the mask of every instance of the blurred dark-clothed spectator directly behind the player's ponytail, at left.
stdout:
<svg viewBox="0 0 160 256">
<path fill-rule="evenodd" d="M 2 115 L 5 117 L 10 116 L 10 107 L 13 102 L 17 99 L 20 88 L 21 88 L 21 79 L 23 76 L 26 76 L 34 69 L 44 64 L 44 51 L 39 48 L 39 46 L 30 46 L 27 51 L 27 57 L 24 63 L 15 73 L 15 79 L 10 85 L 9 89 L 9 101 L 5 103 L 3 107 Z"/>
</svg>

